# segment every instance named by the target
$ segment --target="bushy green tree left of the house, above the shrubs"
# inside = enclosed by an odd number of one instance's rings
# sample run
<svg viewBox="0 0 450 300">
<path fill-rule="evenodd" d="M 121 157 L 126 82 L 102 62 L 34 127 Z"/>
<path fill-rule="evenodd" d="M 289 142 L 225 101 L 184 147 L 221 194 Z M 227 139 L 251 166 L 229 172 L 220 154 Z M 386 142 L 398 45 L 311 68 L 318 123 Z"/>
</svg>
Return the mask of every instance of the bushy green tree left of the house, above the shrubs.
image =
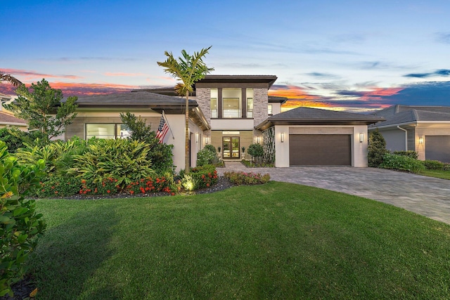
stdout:
<svg viewBox="0 0 450 300">
<path fill-rule="evenodd" d="M 32 84 L 31 90 L 22 84 L 15 93 L 18 98 L 5 105 L 6 109 L 11 110 L 15 117 L 27 121 L 30 129 L 41 131 L 48 140 L 64 133 L 77 116 L 75 109 L 78 98 L 72 96 L 61 102 L 63 92 L 52 89 L 45 79 Z"/>
</svg>

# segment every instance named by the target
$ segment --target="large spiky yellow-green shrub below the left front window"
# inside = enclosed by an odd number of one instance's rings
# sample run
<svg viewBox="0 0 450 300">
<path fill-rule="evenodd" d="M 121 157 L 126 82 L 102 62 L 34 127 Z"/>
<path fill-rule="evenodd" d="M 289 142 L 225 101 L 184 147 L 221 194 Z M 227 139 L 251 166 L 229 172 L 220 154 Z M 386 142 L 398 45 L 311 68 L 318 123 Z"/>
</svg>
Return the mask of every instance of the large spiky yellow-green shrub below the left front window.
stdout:
<svg viewBox="0 0 450 300">
<path fill-rule="evenodd" d="M 117 179 L 125 185 L 155 175 L 148 160 L 148 144 L 127 139 L 89 141 L 83 155 L 73 155 L 74 164 L 68 174 L 93 183 L 106 178 Z"/>
</svg>

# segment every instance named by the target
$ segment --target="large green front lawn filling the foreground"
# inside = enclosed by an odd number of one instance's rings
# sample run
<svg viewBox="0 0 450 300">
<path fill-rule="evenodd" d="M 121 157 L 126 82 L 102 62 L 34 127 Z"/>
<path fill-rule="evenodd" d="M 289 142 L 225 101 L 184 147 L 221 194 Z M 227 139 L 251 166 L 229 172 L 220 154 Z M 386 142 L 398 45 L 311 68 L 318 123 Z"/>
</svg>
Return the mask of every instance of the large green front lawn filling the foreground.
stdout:
<svg viewBox="0 0 450 300">
<path fill-rule="evenodd" d="M 291 183 L 39 200 L 37 299 L 449 299 L 450 226 Z"/>
</svg>

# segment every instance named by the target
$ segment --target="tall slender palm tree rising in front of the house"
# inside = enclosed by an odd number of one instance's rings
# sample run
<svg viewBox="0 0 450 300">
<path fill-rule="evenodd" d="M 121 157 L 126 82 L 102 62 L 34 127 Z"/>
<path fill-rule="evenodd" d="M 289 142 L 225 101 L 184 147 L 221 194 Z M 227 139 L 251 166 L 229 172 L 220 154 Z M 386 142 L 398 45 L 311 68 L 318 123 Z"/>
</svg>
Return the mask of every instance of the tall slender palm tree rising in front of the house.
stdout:
<svg viewBox="0 0 450 300">
<path fill-rule="evenodd" d="M 172 77 L 181 81 L 176 84 L 175 91 L 181 96 L 186 96 L 186 111 L 185 111 L 185 171 L 189 173 L 189 93 L 193 92 L 193 86 L 196 81 L 205 78 L 206 74 L 213 71 L 214 68 L 207 67 L 203 63 L 203 57 L 208 53 L 212 46 L 203 48 L 200 52 L 194 52 L 193 56 L 185 50 L 181 51 L 181 57 L 174 58 L 172 52 L 165 51 L 164 55 L 167 60 L 158 62 L 160 67 L 164 68 L 164 72 L 171 74 Z"/>
</svg>

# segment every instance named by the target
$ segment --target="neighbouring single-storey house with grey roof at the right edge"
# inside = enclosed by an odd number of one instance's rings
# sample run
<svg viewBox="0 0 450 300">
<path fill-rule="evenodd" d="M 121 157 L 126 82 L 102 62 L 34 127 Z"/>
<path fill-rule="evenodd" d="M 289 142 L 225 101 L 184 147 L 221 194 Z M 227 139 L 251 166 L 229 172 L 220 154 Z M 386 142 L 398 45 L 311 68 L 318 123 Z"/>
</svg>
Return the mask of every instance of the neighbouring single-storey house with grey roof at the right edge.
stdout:
<svg viewBox="0 0 450 300">
<path fill-rule="evenodd" d="M 387 150 L 413 150 L 421 160 L 450 162 L 450 107 L 393 105 L 373 115 L 386 119 L 369 131 L 380 131 Z"/>
</svg>

